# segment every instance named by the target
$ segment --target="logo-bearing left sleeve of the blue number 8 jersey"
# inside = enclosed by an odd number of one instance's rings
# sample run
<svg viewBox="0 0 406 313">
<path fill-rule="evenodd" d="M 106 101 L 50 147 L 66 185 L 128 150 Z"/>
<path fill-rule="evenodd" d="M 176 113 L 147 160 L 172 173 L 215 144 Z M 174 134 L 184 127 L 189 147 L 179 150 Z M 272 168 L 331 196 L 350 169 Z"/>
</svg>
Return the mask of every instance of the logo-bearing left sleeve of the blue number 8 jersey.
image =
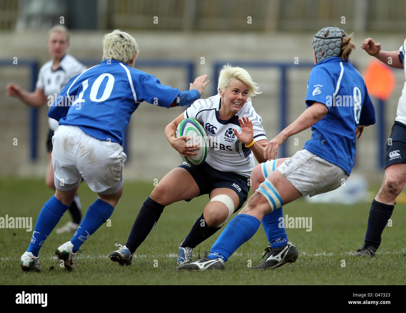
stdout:
<svg viewBox="0 0 406 313">
<path fill-rule="evenodd" d="M 309 107 L 314 102 L 325 104 L 328 109 L 333 102 L 335 91 L 334 81 L 327 70 L 322 66 L 313 67 L 308 82 L 306 105 Z"/>
</svg>

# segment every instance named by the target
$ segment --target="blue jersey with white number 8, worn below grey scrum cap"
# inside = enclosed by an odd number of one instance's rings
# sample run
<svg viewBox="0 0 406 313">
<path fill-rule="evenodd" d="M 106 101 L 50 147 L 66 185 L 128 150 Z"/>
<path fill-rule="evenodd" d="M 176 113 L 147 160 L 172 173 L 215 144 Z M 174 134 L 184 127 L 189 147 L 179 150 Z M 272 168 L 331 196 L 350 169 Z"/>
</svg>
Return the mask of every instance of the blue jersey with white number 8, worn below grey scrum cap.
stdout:
<svg viewBox="0 0 406 313">
<path fill-rule="evenodd" d="M 349 62 L 327 58 L 313 66 L 307 88 L 307 107 L 320 102 L 328 107 L 311 127 L 304 149 L 351 174 L 355 158 L 355 129 L 375 124 L 375 109 L 365 81 Z"/>
</svg>

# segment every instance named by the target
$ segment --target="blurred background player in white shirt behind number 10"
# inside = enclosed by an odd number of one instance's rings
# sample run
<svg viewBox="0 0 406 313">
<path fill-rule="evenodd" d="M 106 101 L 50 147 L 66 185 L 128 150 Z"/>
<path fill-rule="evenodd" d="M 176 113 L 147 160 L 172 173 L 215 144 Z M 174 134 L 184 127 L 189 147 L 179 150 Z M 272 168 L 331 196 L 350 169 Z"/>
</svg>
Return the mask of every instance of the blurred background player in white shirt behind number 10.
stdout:
<svg viewBox="0 0 406 313">
<path fill-rule="evenodd" d="M 31 107 L 42 107 L 45 103 L 51 104 L 52 99 L 56 99 L 56 95 L 67 84 L 73 76 L 82 73 L 86 66 L 78 60 L 67 54 L 69 48 L 69 33 L 65 26 L 57 25 L 48 31 L 48 52 L 52 56 L 52 60 L 46 62 L 39 70 L 37 84 L 34 92 L 22 90 L 18 85 L 10 83 L 6 86 L 7 95 L 15 96 L 21 99 Z M 48 118 L 49 131 L 47 136 L 48 150 L 48 169 L 45 176 L 45 184 L 55 189 L 54 170 L 52 169 L 51 152 L 52 152 L 52 136 L 58 128 L 58 122 L 53 118 Z M 72 232 L 78 229 L 82 214 L 80 212 L 79 198 L 75 197 L 69 212 L 72 216 L 72 221 L 56 232 Z"/>
</svg>

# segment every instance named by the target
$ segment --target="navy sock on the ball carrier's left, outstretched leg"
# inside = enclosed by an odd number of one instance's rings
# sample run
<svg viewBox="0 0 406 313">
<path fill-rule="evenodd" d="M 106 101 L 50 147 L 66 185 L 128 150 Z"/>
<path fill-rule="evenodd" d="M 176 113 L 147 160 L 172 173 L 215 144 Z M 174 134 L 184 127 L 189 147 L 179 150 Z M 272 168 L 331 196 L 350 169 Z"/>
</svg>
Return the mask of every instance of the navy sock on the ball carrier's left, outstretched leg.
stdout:
<svg viewBox="0 0 406 313">
<path fill-rule="evenodd" d="M 140 244 L 152 232 L 156 222 L 160 218 L 165 206 L 154 201 L 150 197 L 145 200 L 143 206 L 138 212 L 134 225 L 132 226 L 130 236 L 128 236 L 125 246 L 131 253 L 134 253 Z"/>
</svg>

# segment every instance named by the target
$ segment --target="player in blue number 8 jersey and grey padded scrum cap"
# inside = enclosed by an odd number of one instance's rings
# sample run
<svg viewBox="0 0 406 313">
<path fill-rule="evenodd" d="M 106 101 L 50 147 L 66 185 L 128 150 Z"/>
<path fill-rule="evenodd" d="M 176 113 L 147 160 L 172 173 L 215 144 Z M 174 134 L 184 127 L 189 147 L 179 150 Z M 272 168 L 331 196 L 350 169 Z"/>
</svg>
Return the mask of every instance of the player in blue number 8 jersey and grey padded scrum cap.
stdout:
<svg viewBox="0 0 406 313">
<path fill-rule="evenodd" d="M 264 182 L 261 169 L 267 168 L 270 161 L 255 167 L 251 180 L 261 182 L 258 189 L 216 240 L 210 255 L 177 270 L 224 269 L 234 251 L 257 232 L 265 214 L 302 195 L 337 189 L 350 176 L 356 138 L 364 126 L 376 122 L 365 82 L 348 60 L 355 48 L 350 40 L 351 36 L 335 27 L 317 32 L 313 38 L 315 65 L 309 77 L 307 109 L 268 142 L 264 156 L 273 159 L 288 137 L 309 127 L 313 131 L 311 139 L 303 150 L 268 174 Z"/>
</svg>

